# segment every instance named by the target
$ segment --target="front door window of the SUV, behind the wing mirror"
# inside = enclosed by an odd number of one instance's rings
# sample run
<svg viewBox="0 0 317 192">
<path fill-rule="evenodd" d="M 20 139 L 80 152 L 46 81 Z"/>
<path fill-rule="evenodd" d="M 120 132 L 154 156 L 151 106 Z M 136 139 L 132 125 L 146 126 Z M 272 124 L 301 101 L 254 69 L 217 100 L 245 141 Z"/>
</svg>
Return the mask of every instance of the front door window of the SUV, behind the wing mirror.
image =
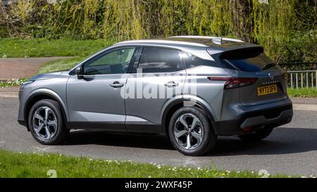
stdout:
<svg viewBox="0 0 317 192">
<path fill-rule="evenodd" d="M 109 51 L 85 64 L 85 75 L 121 74 L 128 70 L 135 48 L 122 48 Z"/>
</svg>

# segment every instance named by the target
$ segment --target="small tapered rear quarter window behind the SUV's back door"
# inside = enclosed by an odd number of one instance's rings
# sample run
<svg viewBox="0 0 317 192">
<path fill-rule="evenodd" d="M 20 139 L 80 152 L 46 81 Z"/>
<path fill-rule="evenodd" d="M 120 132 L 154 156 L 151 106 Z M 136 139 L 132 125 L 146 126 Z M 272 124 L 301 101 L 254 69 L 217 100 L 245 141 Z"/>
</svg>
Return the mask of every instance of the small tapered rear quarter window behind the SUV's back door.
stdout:
<svg viewBox="0 0 317 192">
<path fill-rule="evenodd" d="M 205 60 L 197 56 L 194 56 L 191 53 L 187 53 L 185 51 L 182 51 L 182 58 L 184 60 L 184 63 L 187 69 L 198 67 L 201 65 L 210 66 L 210 67 L 218 67 L 217 63 L 213 60 Z"/>
</svg>

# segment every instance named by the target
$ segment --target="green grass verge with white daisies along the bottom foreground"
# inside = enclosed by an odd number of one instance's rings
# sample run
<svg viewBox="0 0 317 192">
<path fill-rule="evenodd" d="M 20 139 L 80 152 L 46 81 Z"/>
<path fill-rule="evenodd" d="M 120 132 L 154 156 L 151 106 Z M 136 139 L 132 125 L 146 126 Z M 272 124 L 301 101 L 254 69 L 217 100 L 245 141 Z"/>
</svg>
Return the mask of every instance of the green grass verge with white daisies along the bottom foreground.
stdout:
<svg viewBox="0 0 317 192">
<path fill-rule="evenodd" d="M 49 177 L 47 172 L 51 169 L 56 171 L 57 177 L 259 177 L 258 172 L 251 171 L 170 167 L 155 163 L 135 163 L 130 160 L 93 160 L 51 153 L 16 153 L 0 150 L 0 177 Z"/>
</svg>

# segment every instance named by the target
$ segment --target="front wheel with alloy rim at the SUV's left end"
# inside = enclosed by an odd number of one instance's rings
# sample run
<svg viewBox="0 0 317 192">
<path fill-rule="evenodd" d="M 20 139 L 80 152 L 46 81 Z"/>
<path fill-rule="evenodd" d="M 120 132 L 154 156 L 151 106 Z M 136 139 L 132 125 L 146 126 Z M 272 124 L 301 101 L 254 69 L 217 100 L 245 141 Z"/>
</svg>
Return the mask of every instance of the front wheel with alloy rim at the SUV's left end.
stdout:
<svg viewBox="0 0 317 192">
<path fill-rule="evenodd" d="M 44 145 L 65 141 L 69 129 L 63 124 L 63 113 L 56 101 L 43 99 L 35 103 L 29 113 L 28 126 L 35 140 Z"/>
</svg>

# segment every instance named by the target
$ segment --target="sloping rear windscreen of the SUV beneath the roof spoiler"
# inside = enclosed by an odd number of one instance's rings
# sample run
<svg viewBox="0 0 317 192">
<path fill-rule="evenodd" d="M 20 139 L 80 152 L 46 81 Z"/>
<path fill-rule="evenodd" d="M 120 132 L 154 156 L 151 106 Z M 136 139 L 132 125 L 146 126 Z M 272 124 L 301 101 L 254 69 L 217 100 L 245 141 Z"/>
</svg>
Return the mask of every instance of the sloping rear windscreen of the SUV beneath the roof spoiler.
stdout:
<svg viewBox="0 0 317 192">
<path fill-rule="evenodd" d="M 230 51 L 220 56 L 226 68 L 255 72 L 277 68 L 274 60 L 263 53 L 263 49 Z"/>
</svg>

